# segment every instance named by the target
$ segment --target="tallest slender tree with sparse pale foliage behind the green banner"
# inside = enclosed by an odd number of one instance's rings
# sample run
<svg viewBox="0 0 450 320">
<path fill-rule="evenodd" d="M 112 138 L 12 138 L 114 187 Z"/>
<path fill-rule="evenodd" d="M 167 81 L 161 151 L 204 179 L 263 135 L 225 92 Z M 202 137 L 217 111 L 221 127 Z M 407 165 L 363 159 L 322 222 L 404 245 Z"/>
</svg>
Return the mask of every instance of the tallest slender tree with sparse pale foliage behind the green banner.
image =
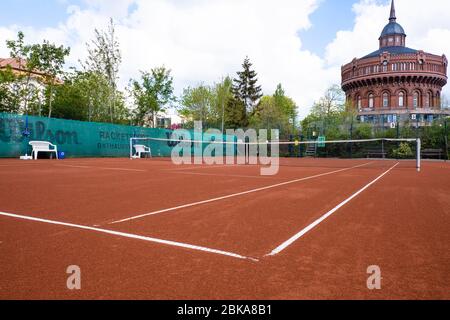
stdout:
<svg viewBox="0 0 450 320">
<path fill-rule="evenodd" d="M 122 62 L 120 45 L 116 39 L 113 19 L 110 20 L 106 31 L 95 29 L 95 38 L 91 45 L 87 44 L 88 58 L 82 64 L 85 71 L 98 72 L 104 75 L 111 88 L 109 111 L 111 122 L 114 122 L 115 96 L 117 94 L 117 81 L 119 66 Z"/>
</svg>

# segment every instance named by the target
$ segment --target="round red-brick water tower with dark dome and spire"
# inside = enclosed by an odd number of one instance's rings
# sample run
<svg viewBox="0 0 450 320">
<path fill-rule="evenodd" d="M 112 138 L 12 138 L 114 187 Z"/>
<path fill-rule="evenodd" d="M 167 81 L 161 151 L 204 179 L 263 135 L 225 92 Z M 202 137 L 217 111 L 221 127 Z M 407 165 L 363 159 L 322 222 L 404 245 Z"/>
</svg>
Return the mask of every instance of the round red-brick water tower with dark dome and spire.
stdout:
<svg viewBox="0 0 450 320">
<path fill-rule="evenodd" d="M 389 23 L 378 40 L 377 51 L 342 67 L 342 89 L 360 121 L 389 126 L 412 120 L 424 126 L 450 115 L 441 106 L 447 58 L 406 46 L 394 0 Z"/>
</svg>

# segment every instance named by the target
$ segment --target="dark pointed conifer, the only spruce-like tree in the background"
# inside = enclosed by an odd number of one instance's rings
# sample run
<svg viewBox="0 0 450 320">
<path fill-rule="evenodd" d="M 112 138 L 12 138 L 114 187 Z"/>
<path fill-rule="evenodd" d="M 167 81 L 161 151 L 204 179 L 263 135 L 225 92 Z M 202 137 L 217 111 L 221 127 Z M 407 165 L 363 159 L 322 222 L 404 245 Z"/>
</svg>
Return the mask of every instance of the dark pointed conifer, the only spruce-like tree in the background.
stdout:
<svg viewBox="0 0 450 320">
<path fill-rule="evenodd" d="M 237 79 L 233 79 L 232 88 L 235 99 L 244 104 L 248 113 L 253 112 L 254 107 L 262 97 L 261 87 L 256 85 L 258 82 L 257 73 L 251 67 L 250 59 L 246 57 L 242 64 L 243 70 L 237 72 Z"/>
</svg>

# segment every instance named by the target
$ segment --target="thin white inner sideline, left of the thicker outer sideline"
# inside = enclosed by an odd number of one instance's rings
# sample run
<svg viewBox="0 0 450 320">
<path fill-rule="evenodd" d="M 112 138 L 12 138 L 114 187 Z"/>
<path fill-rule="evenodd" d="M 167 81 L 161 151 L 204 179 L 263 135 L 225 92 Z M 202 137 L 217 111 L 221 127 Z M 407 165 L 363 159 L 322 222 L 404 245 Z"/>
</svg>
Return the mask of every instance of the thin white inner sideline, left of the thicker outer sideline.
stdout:
<svg viewBox="0 0 450 320">
<path fill-rule="evenodd" d="M 198 206 L 198 205 L 201 205 L 201 204 L 211 203 L 211 202 L 215 202 L 215 201 L 219 201 L 219 200 L 239 197 L 239 196 L 243 196 L 243 195 L 246 195 L 246 194 L 249 194 L 249 193 L 255 193 L 255 192 L 259 192 L 259 191 L 263 191 L 263 190 L 268 190 L 268 189 L 273 189 L 273 188 L 277 188 L 277 187 L 282 187 L 282 186 L 286 186 L 286 185 L 289 185 L 289 184 L 293 184 L 293 183 L 297 183 L 297 182 L 301 182 L 301 181 L 305 181 L 305 180 L 310 180 L 310 179 L 314 179 L 314 178 L 320 178 L 320 177 L 327 176 L 327 175 L 330 175 L 330 174 L 343 172 L 343 171 L 348 171 L 348 170 L 351 170 L 351 169 L 367 166 L 367 165 L 369 165 L 371 163 L 372 162 L 368 162 L 368 163 L 357 165 L 357 166 L 353 166 L 353 167 L 350 167 L 350 168 L 344 168 L 344 169 L 335 170 L 335 171 L 331 171 L 331 172 L 325 172 L 325 173 L 317 174 L 317 175 L 314 175 L 314 176 L 309 176 L 309 177 L 305 177 L 305 178 L 301 178 L 301 179 L 295 179 L 295 180 L 291 180 L 291 181 L 287 181 L 287 182 L 277 183 L 277 184 L 273 184 L 273 185 L 262 187 L 262 188 L 257 188 L 257 189 L 252 189 L 252 190 L 248 190 L 248 191 L 233 193 L 233 194 L 229 194 L 229 195 L 218 197 L 218 198 L 203 200 L 203 201 L 194 202 L 194 203 L 188 203 L 188 204 L 185 204 L 185 205 L 181 205 L 181 206 L 177 206 L 177 207 L 173 207 L 173 208 L 168 208 L 168 209 L 163 209 L 163 210 L 158 210 L 158 211 L 154 211 L 154 212 L 150 212 L 150 213 L 144 213 L 144 214 L 141 214 L 141 215 L 138 215 L 138 216 L 134 216 L 134 217 L 130 217 L 130 218 L 122 219 L 122 220 L 113 221 L 113 222 L 110 222 L 109 224 L 117 224 L 117 223 L 122 223 L 122 222 L 126 222 L 126 221 L 141 219 L 141 218 L 145 218 L 145 217 L 156 215 L 156 214 L 160 214 L 160 213 L 166 213 L 166 212 L 175 211 L 175 210 L 179 210 L 179 209 L 184 209 L 184 208 Z"/>
</svg>

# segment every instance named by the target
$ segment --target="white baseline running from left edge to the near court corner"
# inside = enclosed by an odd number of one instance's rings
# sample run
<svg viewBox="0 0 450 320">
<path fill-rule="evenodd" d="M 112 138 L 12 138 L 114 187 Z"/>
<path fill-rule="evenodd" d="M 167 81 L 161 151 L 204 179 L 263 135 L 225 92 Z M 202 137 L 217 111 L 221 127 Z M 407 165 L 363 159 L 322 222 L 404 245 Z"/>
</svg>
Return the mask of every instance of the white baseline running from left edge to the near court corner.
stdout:
<svg viewBox="0 0 450 320">
<path fill-rule="evenodd" d="M 190 249 L 190 250 L 214 253 L 214 254 L 218 254 L 218 255 L 222 255 L 222 256 L 228 256 L 228 257 L 237 258 L 237 259 L 246 259 L 246 260 L 258 261 L 258 259 L 245 257 L 245 256 L 242 256 L 240 254 L 233 253 L 233 252 L 227 252 L 227 251 L 222 251 L 222 250 L 217 250 L 217 249 L 211 249 L 211 248 L 196 246 L 196 245 L 192 245 L 192 244 L 182 243 L 182 242 L 175 242 L 175 241 L 169 241 L 169 240 L 162 240 L 162 239 L 157 239 L 157 238 L 139 236 L 137 234 L 132 234 L 132 233 L 118 232 L 118 231 L 113 231 L 113 230 L 107 230 L 107 229 L 100 229 L 100 228 L 94 228 L 94 227 L 89 227 L 89 226 L 83 226 L 83 225 L 79 225 L 79 224 L 66 223 L 66 222 L 60 222 L 60 221 L 53 221 L 53 220 L 47 220 L 47 219 L 40 219 L 40 218 L 29 217 L 29 216 L 22 216 L 22 215 L 13 214 L 13 213 L 7 213 L 7 212 L 0 212 L 0 216 L 11 217 L 11 218 L 16 218 L 16 219 L 22 219 L 22 220 L 30 220 L 30 221 L 35 221 L 35 222 L 42 222 L 42 223 L 47 223 L 47 224 L 65 226 L 65 227 L 82 229 L 82 230 L 88 230 L 88 231 L 94 231 L 94 232 L 99 232 L 99 233 L 106 233 L 106 234 L 109 234 L 109 235 L 123 237 L 123 238 L 130 238 L 130 239 L 136 239 L 136 240 L 141 240 L 141 241 L 147 241 L 147 242 L 164 244 L 164 245 L 173 246 L 173 247 L 180 247 L 180 248 L 185 248 L 185 249 Z"/>
</svg>

